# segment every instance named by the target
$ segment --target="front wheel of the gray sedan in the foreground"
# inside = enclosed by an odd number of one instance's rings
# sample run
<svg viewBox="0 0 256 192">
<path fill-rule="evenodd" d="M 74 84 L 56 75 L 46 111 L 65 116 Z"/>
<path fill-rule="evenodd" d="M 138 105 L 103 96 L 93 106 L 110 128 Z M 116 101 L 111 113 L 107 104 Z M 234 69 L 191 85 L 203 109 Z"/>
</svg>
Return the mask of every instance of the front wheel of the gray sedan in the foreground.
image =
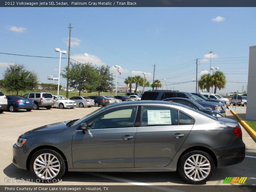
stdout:
<svg viewBox="0 0 256 192">
<path fill-rule="evenodd" d="M 40 158 L 40 156 L 42 158 Z M 50 159 L 55 163 L 48 164 L 49 156 L 50 156 Z M 46 162 L 45 162 L 45 159 L 46 159 Z M 48 168 L 47 173 L 45 172 L 46 168 Z M 52 180 L 52 179 L 56 179 L 56 180 L 60 179 L 63 176 L 63 174 L 66 172 L 67 167 L 64 162 L 64 158 L 57 151 L 54 151 L 52 149 L 40 149 L 32 156 L 29 163 L 29 170 L 31 174 L 34 177 L 36 177 L 36 179 L 39 179 L 42 182 L 49 182 L 49 180 Z M 56 175 L 54 175 L 53 172 Z M 52 178 L 51 178 L 51 175 L 52 175 Z"/>
</svg>

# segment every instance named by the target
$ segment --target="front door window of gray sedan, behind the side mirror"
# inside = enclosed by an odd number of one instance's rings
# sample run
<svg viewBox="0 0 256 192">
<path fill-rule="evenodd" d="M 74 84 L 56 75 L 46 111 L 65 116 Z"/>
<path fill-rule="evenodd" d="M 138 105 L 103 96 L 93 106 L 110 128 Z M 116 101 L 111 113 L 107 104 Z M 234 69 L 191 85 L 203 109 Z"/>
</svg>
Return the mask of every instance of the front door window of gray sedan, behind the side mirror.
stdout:
<svg viewBox="0 0 256 192">
<path fill-rule="evenodd" d="M 112 109 L 87 122 L 88 129 L 133 127 L 137 106 Z"/>
</svg>

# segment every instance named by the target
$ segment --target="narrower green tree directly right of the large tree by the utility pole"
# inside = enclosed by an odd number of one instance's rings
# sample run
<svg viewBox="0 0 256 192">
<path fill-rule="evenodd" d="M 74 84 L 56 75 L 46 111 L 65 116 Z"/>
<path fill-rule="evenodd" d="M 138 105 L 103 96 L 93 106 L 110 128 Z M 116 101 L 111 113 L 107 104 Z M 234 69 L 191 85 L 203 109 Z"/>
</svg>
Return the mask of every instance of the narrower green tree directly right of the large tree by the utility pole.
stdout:
<svg viewBox="0 0 256 192">
<path fill-rule="evenodd" d="M 99 71 L 99 84 L 96 86 L 96 90 L 99 92 L 107 92 L 111 89 L 111 86 L 113 85 L 112 80 L 113 77 L 110 74 L 109 66 L 101 66 L 98 68 Z"/>
</svg>

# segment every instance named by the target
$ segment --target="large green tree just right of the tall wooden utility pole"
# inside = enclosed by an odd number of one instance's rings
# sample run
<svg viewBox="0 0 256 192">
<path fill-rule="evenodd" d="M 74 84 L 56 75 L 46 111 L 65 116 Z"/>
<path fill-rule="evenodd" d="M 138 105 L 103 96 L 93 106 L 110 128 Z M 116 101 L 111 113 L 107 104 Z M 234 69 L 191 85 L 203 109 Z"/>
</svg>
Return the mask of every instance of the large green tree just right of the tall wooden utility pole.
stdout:
<svg viewBox="0 0 256 192">
<path fill-rule="evenodd" d="M 84 89 L 94 91 L 100 83 L 99 70 L 89 62 L 84 64 L 70 63 L 69 70 L 68 67 L 65 67 L 61 75 L 66 79 L 67 76 L 69 77 L 70 87 L 79 90 L 79 96 Z"/>
</svg>

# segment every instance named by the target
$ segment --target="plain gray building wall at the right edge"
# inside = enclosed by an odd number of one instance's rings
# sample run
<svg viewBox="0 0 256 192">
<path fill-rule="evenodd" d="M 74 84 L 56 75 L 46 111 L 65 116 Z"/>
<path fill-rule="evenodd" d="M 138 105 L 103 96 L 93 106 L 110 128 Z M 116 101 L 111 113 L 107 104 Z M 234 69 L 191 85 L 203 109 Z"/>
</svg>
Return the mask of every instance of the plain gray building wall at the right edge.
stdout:
<svg viewBox="0 0 256 192">
<path fill-rule="evenodd" d="M 256 46 L 249 53 L 246 119 L 256 120 Z"/>
</svg>

